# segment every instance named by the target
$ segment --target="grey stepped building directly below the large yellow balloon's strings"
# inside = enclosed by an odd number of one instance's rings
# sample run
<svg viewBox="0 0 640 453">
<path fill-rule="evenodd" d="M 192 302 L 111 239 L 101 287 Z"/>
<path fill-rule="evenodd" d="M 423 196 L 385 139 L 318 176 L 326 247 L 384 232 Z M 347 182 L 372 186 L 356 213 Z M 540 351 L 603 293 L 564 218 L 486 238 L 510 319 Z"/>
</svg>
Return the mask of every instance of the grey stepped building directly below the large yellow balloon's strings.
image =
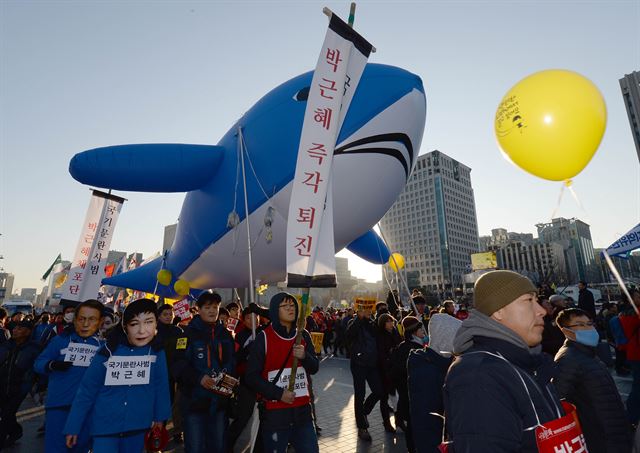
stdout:
<svg viewBox="0 0 640 453">
<path fill-rule="evenodd" d="M 552 219 L 550 223 L 539 223 L 538 237 L 541 242 L 557 242 L 564 248 L 568 279 L 598 282 L 600 272 L 595 261 L 591 230 L 579 219 Z"/>
</svg>

